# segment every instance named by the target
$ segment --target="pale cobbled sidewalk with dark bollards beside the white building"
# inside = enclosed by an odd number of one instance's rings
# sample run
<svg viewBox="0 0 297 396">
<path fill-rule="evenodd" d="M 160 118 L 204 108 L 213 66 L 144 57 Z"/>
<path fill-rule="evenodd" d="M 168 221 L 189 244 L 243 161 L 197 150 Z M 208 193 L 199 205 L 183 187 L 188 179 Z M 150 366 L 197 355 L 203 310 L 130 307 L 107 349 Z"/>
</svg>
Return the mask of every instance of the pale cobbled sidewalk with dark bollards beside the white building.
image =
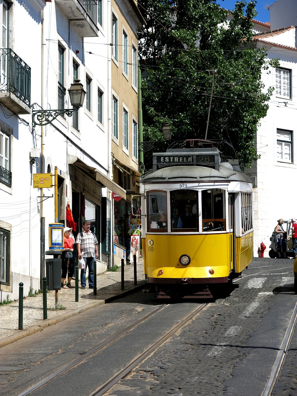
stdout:
<svg viewBox="0 0 297 396">
<path fill-rule="evenodd" d="M 0 306 L 0 348 L 17 341 L 40 329 L 77 315 L 88 309 L 103 305 L 116 297 L 121 297 L 135 288 L 144 286 L 146 280 L 143 272 L 143 259 L 137 262 L 137 285 L 134 284 L 134 265 L 124 266 L 124 290 L 121 290 L 121 268 L 117 272 L 103 272 L 97 275 L 97 295 L 93 289 L 80 288 L 78 282 L 78 302 L 75 301 L 75 289 L 61 289 L 58 293 L 58 304 L 65 309 L 55 309 L 55 290 L 47 295 L 48 319 L 43 319 L 42 293 L 23 300 L 23 330 L 19 327 L 19 301 Z M 71 281 L 74 286 L 75 281 Z"/>
</svg>

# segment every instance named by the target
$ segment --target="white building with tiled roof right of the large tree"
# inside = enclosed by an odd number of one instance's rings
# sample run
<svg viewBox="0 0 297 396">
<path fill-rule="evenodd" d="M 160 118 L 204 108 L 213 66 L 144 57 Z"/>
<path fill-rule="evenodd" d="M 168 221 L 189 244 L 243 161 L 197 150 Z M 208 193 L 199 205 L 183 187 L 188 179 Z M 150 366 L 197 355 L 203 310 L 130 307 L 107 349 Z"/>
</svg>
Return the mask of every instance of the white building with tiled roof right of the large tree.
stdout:
<svg viewBox="0 0 297 396">
<path fill-rule="evenodd" d="M 254 183 L 254 255 L 264 242 L 265 257 L 277 220 L 297 217 L 297 2 L 277 0 L 269 10 L 270 23 L 255 21 L 254 43 L 280 67 L 262 73 L 265 88 L 274 92 L 255 139 L 261 157 L 246 169 Z"/>
</svg>

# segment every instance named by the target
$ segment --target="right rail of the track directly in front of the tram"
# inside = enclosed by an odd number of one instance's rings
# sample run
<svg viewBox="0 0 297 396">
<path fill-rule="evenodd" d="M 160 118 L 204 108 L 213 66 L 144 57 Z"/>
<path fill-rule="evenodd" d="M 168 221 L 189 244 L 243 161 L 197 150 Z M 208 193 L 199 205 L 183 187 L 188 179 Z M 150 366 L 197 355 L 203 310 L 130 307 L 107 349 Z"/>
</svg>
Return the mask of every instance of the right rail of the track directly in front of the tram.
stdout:
<svg viewBox="0 0 297 396">
<path fill-rule="evenodd" d="M 152 352 L 154 352 L 160 345 L 167 341 L 173 334 L 175 334 L 181 327 L 185 326 L 194 316 L 196 316 L 200 311 L 202 311 L 208 303 L 204 303 L 197 309 L 195 309 L 191 314 L 184 318 L 179 324 L 172 327 L 166 334 L 163 335 L 158 341 L 152 344 L 147 350 L 140 354 L 137 358 L 132 360 L 124 369 L 119 371 L 114 377 L 112 377 L 107 383 L 98 388 L 95 392 L 91 393 L 89 396 L 101 396 L 105 394 L 112 386 L 116 385 L 118 381 L 126 377 L 135 367 L 137 367 L 145 358 L 147 358 Z"/>
</svg>

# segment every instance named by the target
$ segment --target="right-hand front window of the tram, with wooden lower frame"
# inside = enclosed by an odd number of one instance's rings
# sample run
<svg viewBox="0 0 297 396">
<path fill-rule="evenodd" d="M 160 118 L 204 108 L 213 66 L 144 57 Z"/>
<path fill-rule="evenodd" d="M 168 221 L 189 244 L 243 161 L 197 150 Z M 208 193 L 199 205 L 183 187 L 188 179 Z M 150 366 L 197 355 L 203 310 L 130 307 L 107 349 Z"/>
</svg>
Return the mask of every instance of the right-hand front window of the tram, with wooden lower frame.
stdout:
<svg viewBox="0 0 297 396">
<path fill-rule="evenodd" d="M 204 232 L 226 230 L 225 190 L 211 188 L 201 192 Z"/>
</svg>

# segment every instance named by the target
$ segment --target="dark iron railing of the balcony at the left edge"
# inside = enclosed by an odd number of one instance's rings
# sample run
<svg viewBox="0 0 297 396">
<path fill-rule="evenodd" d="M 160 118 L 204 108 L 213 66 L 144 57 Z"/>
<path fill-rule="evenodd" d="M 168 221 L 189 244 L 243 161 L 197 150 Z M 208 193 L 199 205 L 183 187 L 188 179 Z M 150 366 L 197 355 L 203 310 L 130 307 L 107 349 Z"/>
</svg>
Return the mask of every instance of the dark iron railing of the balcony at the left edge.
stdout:
<svg viewBox="0 0 297 396">
<path fill-rule="evenodd" d="M 0 92 L 11 92 L 30 106 L 31 68 L 11 48 L 0 49 Z"/>
</svg>

